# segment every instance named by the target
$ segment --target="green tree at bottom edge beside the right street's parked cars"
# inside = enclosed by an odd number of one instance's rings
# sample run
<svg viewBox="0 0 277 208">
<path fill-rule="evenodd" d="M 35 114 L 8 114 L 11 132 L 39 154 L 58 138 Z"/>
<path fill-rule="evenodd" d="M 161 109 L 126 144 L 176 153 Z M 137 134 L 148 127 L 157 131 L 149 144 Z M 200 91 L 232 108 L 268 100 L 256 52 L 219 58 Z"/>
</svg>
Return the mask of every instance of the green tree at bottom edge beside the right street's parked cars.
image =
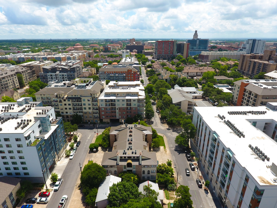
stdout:
<svg viewBox="0 0 277 208">
<path fill-rule="evenodd" d="M 175 192 L 175 196 L 177 198 L 174 200 L 174 208 L 193 208 L 188 186 L 180 185 Z"/>
</svg>

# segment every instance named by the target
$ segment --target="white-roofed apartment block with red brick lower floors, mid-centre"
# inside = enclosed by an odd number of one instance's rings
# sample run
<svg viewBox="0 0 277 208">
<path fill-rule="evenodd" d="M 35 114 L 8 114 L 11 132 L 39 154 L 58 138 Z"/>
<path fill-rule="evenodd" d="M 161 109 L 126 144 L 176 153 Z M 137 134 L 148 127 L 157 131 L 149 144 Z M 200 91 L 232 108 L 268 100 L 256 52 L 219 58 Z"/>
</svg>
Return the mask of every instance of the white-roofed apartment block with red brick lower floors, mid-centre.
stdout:
<svg viewBox="0 0 277 208">
<path fill-rule="evenodd" d="M 100 118 L 119 122 L 136 114 L 144 117 L 145 92 L 139 81 L 111 81 L 99 97 Z"/>
</svg>

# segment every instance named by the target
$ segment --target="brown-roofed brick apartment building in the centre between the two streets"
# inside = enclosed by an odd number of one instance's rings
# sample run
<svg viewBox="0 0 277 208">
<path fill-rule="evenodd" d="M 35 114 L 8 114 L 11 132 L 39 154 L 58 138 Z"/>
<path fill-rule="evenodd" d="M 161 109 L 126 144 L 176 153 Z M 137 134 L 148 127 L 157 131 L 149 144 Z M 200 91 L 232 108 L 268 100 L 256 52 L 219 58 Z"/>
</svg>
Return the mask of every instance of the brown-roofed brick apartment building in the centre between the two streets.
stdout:
<svg viewBox="0 0 277 208">
<path fill-rule="evenodd" d="M 111 127 L 112 152 L 105 152 L 102 167 L 106 174 L 118 176 L 123 171 L 137 174 L 140 180 L 156 180 L 157 156 L 151 152 L 152 129 L 126 124 Z"/>
</svg>

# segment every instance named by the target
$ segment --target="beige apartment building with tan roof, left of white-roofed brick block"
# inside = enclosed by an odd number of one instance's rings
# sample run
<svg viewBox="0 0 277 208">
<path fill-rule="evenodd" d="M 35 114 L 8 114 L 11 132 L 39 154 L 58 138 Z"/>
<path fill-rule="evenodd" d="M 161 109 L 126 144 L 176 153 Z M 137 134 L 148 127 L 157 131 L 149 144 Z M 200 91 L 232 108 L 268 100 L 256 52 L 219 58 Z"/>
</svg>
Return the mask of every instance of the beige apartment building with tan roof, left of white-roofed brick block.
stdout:
<svg viewBox="0 0 277 208">
<path fill-rule="evenodd" d="M 92 79 L 55 81 L 36 92 L 35 97 L 42 104 L 53 106 L 65 121 L 72 121 L 73 114 L 78 114 L 84 122 L 98 122 L 98 97 L 105 86 L 105 81 Z"/>
</svg>

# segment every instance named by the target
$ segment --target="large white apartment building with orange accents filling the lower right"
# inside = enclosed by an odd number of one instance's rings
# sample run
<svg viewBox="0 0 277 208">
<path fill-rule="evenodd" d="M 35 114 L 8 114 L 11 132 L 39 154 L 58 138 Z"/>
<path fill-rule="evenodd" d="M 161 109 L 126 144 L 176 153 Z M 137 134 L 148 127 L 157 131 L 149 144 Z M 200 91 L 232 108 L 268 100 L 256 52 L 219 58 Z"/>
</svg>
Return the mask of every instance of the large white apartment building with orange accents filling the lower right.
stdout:
<svg viewBox="0 0 277 208">
<path fill-rule="evenodd" d="M 276 103 L 267 107 L 194 107 L 199 157 L 214 195 L 226 207 L 276 207 Z"/>
</svg>

